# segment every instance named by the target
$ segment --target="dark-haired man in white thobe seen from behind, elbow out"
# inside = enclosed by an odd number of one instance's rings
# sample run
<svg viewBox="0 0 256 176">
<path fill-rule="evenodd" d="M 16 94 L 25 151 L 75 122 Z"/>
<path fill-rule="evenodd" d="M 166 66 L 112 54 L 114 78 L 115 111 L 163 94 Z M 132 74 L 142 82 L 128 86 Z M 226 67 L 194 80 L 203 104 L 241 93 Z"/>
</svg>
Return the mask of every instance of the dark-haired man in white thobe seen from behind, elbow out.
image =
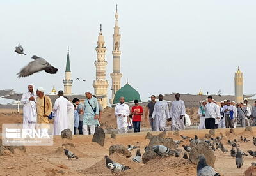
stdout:
<svg viewBox="0 0 256 176">
<path fill-rule="evenodd" d="M 63 97 L 63 94 L 63 91 L 58 92 L 59 98 L 56 99 L 52 110 L 55 114 L 54 135 L 61 135 L 61 131 L 68 128 L 68 110 L 74 108 L 74 105 Z"/>
</svg>

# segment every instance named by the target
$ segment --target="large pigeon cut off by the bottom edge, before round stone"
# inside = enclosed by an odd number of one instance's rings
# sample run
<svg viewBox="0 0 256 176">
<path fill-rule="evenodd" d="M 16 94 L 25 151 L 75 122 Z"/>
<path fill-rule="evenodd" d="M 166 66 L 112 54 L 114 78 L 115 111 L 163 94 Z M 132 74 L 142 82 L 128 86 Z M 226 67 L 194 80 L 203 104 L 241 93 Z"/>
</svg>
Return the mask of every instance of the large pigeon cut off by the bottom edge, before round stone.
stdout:
<svg viewBox="0 0 256 176">
<path fill-rule="evenodd" d="M 207 165 L 204 154 L 199 154 L 197 158 L 199 159 L 199 162 L 197 164 L 197 176 L 206 176 L 206 175 L 220 176 L 220 174 L 217 173 L 214 170 L 214 168 Z"/>
</svg>

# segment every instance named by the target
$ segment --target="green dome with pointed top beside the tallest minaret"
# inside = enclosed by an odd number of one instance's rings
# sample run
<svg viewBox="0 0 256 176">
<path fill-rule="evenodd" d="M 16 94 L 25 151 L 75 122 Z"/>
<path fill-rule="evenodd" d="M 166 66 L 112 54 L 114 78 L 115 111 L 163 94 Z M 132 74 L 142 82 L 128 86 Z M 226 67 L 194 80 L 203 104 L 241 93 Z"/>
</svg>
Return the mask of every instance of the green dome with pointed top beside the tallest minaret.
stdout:
<svg viewBox="0 0 256 176">
<path fill-rule="evenodd" d="M 122 96 L 124 96 L 125 102 L 134 101 L 135 99 L 138 99 L 139 102 L 141 101 L 139 92 L 136 91 L 133 87 L 131 87 L 131 85 L 129 85 L 128 83 L 116 92 L 113 103 L 119 103 L 119 99 Z"/>
</svg>

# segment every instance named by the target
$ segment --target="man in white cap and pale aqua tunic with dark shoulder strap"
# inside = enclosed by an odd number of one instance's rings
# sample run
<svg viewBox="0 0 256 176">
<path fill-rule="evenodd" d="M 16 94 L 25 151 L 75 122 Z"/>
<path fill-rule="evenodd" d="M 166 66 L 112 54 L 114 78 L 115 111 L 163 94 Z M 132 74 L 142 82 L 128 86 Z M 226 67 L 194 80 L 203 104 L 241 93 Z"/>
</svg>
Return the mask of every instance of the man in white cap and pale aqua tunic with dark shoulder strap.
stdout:
<svg viewBox="0 0 256 176">
<path fill-rule="evenodd" d="M 95 133 L 95 126 L 99 125 L 99 103 L 97 98 L 92 96 L 92 91 L 85 92 L 83 134 L 88 135 L 90 128 L 91 135 Z"/>
</svg>

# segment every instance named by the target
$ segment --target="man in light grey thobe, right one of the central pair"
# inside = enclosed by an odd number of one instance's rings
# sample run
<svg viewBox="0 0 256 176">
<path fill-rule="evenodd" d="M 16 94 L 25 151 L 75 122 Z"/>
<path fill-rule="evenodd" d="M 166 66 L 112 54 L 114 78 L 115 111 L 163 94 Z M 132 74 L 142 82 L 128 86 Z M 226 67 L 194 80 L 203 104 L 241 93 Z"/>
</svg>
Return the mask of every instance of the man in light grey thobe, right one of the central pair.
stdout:
<svg viewBox="0 0 256 176">
<path fill-rule="evenodd" d="M 176 100 L 170 108 L 170 119 L 172 119 L 172 131 L 185 129 L 186 108 L 184 101 L 180 100 L 180 94 L 175 94 Z"/>
</svg>

